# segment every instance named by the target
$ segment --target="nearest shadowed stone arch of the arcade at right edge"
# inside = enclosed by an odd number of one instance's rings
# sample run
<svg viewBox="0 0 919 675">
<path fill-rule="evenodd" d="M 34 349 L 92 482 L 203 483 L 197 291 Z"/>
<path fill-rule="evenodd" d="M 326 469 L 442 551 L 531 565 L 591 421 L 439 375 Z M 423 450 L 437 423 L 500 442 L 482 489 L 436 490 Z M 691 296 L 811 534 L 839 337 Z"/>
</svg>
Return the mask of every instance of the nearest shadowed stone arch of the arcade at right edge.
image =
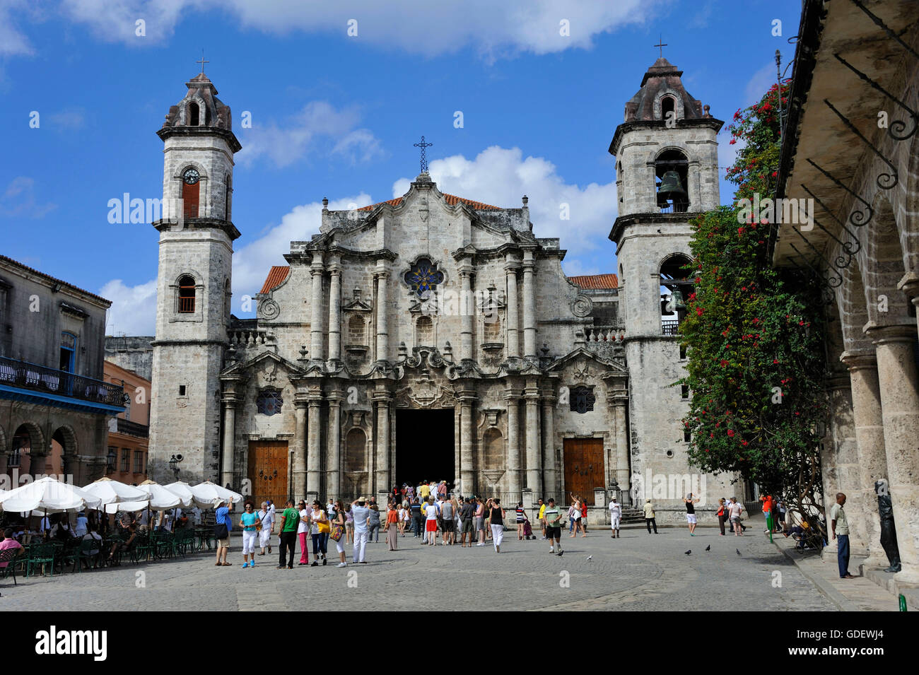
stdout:
<svg viewBox="0 0 919 675">
<path fill-rule="evenodd" d="M 906 272 L 906 260 L 891 202 L 879 193 L 873 208 L 863 269 L 868 320 L 879 326 L 914 325 L 909 301 L 897 287 Z"/>
</svg>

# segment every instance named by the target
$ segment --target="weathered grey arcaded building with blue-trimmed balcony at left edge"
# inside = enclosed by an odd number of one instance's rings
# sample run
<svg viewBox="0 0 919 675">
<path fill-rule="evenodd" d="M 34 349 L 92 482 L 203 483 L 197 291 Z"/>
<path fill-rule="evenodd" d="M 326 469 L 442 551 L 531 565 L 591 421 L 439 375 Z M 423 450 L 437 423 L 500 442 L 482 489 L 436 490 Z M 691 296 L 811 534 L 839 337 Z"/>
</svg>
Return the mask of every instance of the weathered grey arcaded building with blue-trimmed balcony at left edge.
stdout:
<svg viewBox="0 0 919 675">
<path fill-rule="evenodd" d="M 124 411 L 103 378 L 111 303 L 0 255 L 0 481 L 106 472 L 108 418 Z M 6 476 L 6 478 L 4 478 Z"/>
</svg>

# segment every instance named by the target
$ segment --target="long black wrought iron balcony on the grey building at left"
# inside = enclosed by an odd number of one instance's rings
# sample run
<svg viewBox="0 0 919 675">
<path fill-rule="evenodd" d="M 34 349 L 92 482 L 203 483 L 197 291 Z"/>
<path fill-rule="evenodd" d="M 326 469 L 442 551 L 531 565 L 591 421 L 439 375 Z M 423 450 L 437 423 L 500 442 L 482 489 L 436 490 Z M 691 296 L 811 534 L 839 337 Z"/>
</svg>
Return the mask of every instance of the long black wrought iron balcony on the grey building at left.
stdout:
<svg viewBox="0 0 919 675">
<path fill-rule="evenodd" d="M 124 388 L 101 380 L 0 356 L 0 385 L 122 408 Z"/>
</svg>

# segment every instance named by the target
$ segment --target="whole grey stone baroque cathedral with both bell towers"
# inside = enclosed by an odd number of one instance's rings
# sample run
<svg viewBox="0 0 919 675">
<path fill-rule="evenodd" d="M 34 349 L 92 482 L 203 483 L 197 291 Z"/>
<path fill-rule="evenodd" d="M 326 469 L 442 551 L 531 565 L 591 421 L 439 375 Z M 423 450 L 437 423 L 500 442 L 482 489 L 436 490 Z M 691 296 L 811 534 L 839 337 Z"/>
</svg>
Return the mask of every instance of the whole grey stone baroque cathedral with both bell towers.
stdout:
<svg viewBox="0 0 919 675">
<path fill-rule="evenodd" d="M 528 197 L 453 196 L 423 167 L 402 197 L 323 200 L 319 233 L 290 242 L 244 320 L 230 312 L 240 144 L 207 76 L 188 82 L 158 132 L 164 201 L 181 199 L 183 218 L 153 223 L 151 477 L 172 480 L 181 454 L 182 479 L 256 499 L 446 480 L 508 504 L 653 497 L 662 520 L 690 489 L 709 506 L 730 496 L 687 466 L 688 392 L 674 386 L 688 220 L 719 204 L 721 126 L 680 74 L 655 62 L 610 145 L 618 274 L 565 276 Z"/>
</svg>

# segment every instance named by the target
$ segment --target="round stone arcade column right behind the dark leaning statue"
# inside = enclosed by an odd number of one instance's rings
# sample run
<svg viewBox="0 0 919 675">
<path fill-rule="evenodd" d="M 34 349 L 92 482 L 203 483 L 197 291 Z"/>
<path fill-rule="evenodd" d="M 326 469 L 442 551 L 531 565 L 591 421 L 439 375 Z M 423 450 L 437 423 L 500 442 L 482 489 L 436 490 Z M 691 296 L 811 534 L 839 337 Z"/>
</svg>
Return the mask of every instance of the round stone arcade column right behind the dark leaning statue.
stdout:
<svg viewBox="0 0 919 675">
<path fill-rule="evenodd" d="M 880 410 L 878 361 L 874 354 L 840 356 L 849 368 L 852 388 L 852 412 L 858 444 L 859 489 L 865 506 L 868 567 L 887 567 L 890 563 L 880 546 L 880 517 L 874 482 L 887 478 L 887 455 L 884 452 L 884 421 Z"/>
</svg>

